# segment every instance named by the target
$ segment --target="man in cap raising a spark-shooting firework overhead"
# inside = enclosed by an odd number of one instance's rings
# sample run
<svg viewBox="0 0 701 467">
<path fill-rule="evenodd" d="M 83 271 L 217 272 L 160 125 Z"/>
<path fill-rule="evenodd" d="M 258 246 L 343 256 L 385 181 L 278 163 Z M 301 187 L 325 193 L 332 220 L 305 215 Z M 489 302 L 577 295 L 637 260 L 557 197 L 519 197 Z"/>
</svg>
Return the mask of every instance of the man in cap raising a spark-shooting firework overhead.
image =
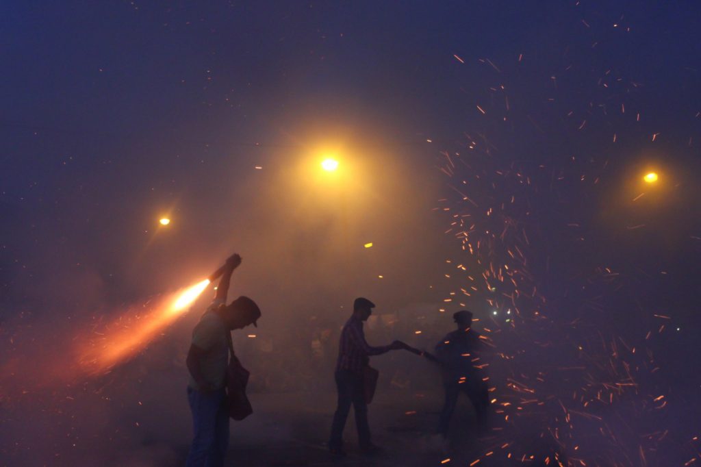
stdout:
<svg viewBox="0 0 701 467">
<path fill-rule="evenodd" d="M 219 270 L 223 273 L 215 298 L 192 331 L 186 360 L 190 372 L 187 398 L 194 429 L 188 467 L 223 466 L 229 446 L 229 413 L 225 402 L 231 331 L 251 324 L 257 326 L 261 316 L 258 306 L 248 297 L 238 297 L 226 304 L 231 273 L 239 264 L 239 255 L 226 259 Z"/>
</svg>

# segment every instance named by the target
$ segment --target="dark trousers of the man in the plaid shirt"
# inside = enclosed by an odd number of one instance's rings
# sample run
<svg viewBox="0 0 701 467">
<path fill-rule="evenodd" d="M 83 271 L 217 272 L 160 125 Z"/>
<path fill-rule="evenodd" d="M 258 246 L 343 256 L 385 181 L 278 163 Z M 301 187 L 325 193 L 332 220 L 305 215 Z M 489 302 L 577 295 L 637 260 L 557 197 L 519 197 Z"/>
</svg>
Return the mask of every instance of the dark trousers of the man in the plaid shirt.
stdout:
<svg viewBox="0 0 701 467">
<path fill-rule="evenodd" d="M 369 447 L 372 443 L 370 441 L 370 427 L 367 424 L 367 404 L 365 403 L 362 374 L 339 370 L 336 371 L 335 377 L 336 388 L 339 390 L 339 403 L 331 425 L 329 447 L 331 449 L 343 447 L 343 428 L 346 426 L 351 404 L 355 408 L 355 426 L 358 428 L 360 447 Z"/>
</svg>

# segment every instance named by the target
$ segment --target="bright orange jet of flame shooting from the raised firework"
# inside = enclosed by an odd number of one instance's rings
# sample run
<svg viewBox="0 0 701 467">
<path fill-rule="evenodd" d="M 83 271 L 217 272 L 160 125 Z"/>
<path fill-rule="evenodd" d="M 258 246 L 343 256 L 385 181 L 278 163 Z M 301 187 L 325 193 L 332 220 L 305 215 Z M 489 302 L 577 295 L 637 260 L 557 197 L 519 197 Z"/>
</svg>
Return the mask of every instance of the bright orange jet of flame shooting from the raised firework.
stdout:
<svg viewBox="0 0 701 467">
<path fill-rule="evenodd" d="M 165 327 L 188 311 L 187 307 L 209 284 L 210 280 L 205 279 L 169 295 L 146 313 L 141 307 L 125 311 L 101 332 L 93 331 L 93 334 L 102 337 L 89 341 L 79 350 L 81 370 L 88 374 L 102 374 L 135 356 Z"/>
</svg>

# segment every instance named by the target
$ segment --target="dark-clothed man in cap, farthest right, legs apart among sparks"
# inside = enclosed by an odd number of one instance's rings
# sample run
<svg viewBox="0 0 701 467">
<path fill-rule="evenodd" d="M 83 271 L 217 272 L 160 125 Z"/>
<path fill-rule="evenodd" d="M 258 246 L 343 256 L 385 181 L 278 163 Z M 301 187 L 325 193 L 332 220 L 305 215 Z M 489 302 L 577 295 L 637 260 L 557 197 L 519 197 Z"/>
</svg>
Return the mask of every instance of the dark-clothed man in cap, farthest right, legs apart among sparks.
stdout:
<svg viewBox="0 0 701 467">
<path fill-rule="evenodd" d="M 484 344 L 479 334 L 472 330 L 472 312 L 458 311 L 453 315 L 453 319 L 458 329 L 449 332 L 435 348 L 436 357 L 442 366 L 445 389 L 437 432 L 444 437 L 448 434 L 450 419 L 461 392 L 470 398 L 472 406 L 475 407 L 480 432 L 486 430 L 486 410 L 489 406 L 489 392 L 484 373 L 479 368 L 478 353 L 484 350 Z"/>
</svg>

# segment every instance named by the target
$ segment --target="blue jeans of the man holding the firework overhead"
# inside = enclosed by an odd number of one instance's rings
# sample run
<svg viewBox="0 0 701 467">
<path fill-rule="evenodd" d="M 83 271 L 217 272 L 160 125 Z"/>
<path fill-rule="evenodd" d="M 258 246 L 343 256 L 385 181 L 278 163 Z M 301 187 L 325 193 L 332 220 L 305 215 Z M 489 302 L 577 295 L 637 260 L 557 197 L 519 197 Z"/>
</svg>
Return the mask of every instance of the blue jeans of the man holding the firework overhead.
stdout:
<svg viewBox="0 0 701 467">
<path fill-rule="evenodd" d="M 222 467 L 229 447 L 229 413 L 226 389 L 201 393 L 187 388 L 195 436 L 187 456 L 187 467 Z"/>
</svg>

